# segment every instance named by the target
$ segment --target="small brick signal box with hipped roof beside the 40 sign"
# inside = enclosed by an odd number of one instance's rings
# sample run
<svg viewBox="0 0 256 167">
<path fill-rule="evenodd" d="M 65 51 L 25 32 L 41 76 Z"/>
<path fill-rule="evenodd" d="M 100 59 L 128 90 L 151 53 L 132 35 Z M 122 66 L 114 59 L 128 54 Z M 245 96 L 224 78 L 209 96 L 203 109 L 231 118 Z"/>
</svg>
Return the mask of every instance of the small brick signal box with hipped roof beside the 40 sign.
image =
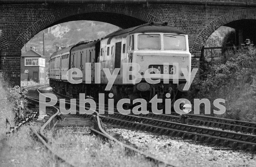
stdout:
<svg viewBox="0 0 256 167">
<path fill-rule="evenodd" d="M 20 75 L 21 81 L 45 82 L 45 57 L 35 48 L 21 54 Z"/>
</svg>

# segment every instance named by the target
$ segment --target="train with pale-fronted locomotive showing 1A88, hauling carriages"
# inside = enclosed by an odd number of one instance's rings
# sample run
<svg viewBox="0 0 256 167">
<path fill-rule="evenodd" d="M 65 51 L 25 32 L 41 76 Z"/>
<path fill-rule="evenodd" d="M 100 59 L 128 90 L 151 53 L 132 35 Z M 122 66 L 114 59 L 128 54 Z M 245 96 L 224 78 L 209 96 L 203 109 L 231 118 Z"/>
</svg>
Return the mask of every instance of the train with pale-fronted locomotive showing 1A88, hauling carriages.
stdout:
<svg viewBox="0 0 256 167">
<path fill-rule="evenodd" d="M 91 65 L 88 66 L 86 63 Z M 95 76 L 96 63 L 100 64 L 100 76 Z M 124 68 L 127 68 L 127 63 L 136 63 L 139 71 L 134 75 L 126 75 L 127 71 L 125 73 Z M 164 63 L 169 63 L 169 67 Z M 166 67 L 169 68 L 167 73 Z M 68 81 L 67 73 L 72 68 L 81 70 L 81 83 L 72 84 Z M 91 76 L 86 76 L 87 68 L 90 68 Z M 128 73 L 134 70 L 131 66 L 128 68 Z M 106 96 L 113 93 L 115 102 L 124 98 L 141 98 L 149 102 L 157 95 L 158 99 L 172 99 L 173 105 L 175 99 L 187 96 L 187 91 L 183 91 L 186 78 L 182 68 L 191 71 L 187 33 L 167 22 L 151 22 L 113 32 L 98 41 L 79 42 L 53 53 L 49 59 L 48 75 L 49 84 L 56 92 L 74 98 L 79 97 L 79 93 L 95 99 L 99 93 L 105 93 Z M 105 91 L 108 76 L 104 69 L 108 69 L 112 74 L 116 72 L 117 75 L 108 91 Z M 146 72 L 150 72 L 150 77 Z M 178 82 L 174 81 L 174 75 L 178 77 Z M 86 82 L 88 77 L 90 83 Z M 100 77 L 100 83 L 97 77 Z M 134 78 L 140 80 L 124 83 L 124 80 Z M 157 80 L 158 83 L 149 83 L 149 79 Z M 169 93 L 169 96 L 166 93 Z"/>
</svg>

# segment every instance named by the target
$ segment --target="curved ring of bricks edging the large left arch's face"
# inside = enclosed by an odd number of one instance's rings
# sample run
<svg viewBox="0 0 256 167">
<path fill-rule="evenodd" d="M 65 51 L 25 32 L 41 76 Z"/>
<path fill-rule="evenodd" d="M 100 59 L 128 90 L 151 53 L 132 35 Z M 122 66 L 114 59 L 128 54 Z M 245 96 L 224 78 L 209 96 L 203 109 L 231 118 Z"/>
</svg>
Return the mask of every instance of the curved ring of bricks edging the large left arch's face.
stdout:
<svg viewBox="0 0 256 167">
<path fill-rule="evenodd" d="M 87 5 L 85 8 L 67 8 L 66 10 L 55 11 L 30 25 L 15 41 L 17 48 L 21 49 L 34 35 L 42 31 L 45 27 L 52 25 L 54 22 L 57 22 L 63 18 L 72 15 L 78 15 L 83 13 L 90 12 L 110 12 L 113 11 L 117 14 L 128 15 L 137 19 L 140 19 L 145 22 L 163 22 L 158 17 L 152 15 L 151 13 L 145 12 L 143 10 L 137 10 L 131 6 L 125 7 L 123 10 L 118 10 L 116 5 L 112 5 L 111 8 L 105 7 L 104 4 L 94 4 Z"/>
</svg>

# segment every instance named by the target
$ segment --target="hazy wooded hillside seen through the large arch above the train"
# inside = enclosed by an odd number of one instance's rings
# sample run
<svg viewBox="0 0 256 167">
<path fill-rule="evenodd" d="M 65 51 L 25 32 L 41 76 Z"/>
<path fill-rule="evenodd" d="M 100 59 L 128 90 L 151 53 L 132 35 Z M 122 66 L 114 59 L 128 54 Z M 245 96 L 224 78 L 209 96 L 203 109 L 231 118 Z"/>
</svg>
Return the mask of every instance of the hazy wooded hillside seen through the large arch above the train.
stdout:
<svg viewBox="0 0 256 167">
<path fill-rule="evenodd" d="M 35 47 L 37 52 L 43 54 L 43 32 L 45 57 L 50 58 L 52 53 L 56 51 L 56 45 L 60 47 L 68 47 L 81 41 L 94 41 L 101 39 L 118 29 L 119 27 L 115 25 L 95 21 L 82 20 L 61 23 L 44 29 L 35 35 L 27 43 L 27 50 L 32 46 Z M 25 51 L 26 46 L 22 48 L 21 52 L 24 53 Z"/>
</svg>

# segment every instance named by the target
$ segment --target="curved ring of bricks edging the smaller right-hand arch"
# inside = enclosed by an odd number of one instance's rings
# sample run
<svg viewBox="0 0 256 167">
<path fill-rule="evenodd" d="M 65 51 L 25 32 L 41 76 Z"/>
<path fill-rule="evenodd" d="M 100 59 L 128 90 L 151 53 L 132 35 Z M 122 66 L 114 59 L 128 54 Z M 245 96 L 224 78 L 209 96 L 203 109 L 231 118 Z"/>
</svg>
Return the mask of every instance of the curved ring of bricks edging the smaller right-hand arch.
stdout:
<svg viewBox="0 0 256 167">
<path fill-rule="evenodd" d="M 201 51 L 204 42 L 215 30 L 229 22 L 233 22 L 240 19 L 256 19 L 256 11 L 247 9 L 237 10 L 215 18 L 212 22 L 206 25 L 204 29 L 199 33 L 191 48 L 191 51 Z"/>
</svg>

